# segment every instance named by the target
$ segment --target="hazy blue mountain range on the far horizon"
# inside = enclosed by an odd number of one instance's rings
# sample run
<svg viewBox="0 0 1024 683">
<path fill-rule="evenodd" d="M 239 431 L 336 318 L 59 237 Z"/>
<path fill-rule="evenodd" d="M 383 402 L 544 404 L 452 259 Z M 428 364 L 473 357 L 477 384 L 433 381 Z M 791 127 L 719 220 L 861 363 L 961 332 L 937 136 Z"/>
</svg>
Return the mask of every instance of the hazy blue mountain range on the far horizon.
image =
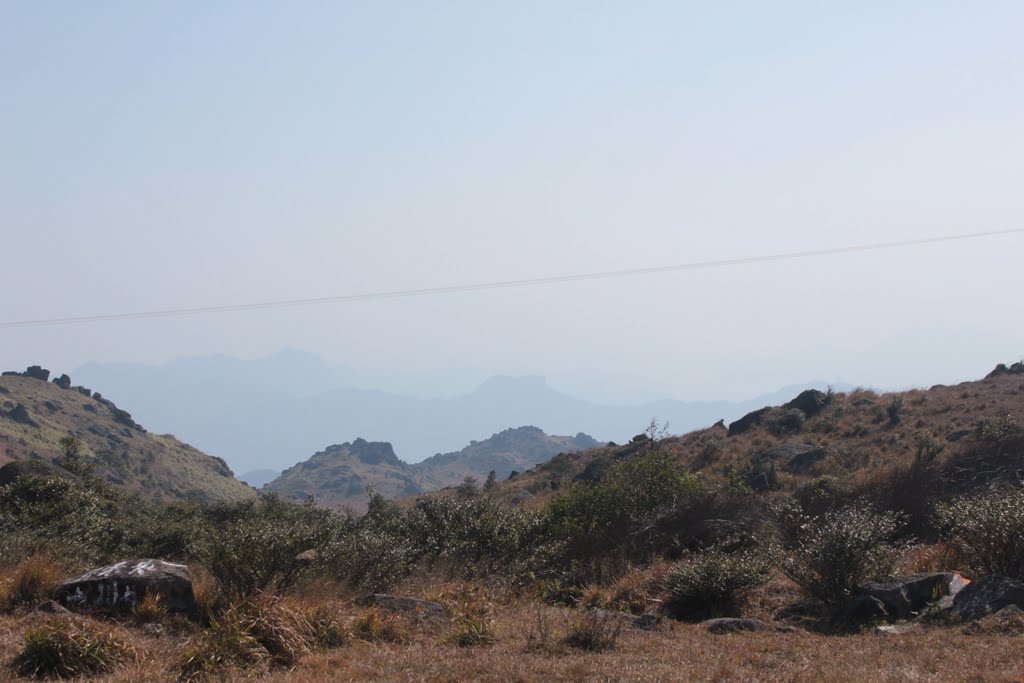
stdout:
<svg viewBox="0 0 1024 683">
<path fill-rule="evenodd" d="M 680 433 L 787 400 L 808 387 L 824 388 L 823 382 L 790 386 L 739 402 L 602 405 L 560 393 L 541 377 L 494 377 L 463 396 L 423 399 L 353 388 L 343 370 L 298 351 L 255 360 L 210 356 L 161 366 L 90 364 L 74 374 L 131 405 L 154 429 L 220 456 L 241 472 L 281 470 L 325 443 L 337 443 L 339 435 L 388 441 L 409 462 L 455 452 L 512 425 L 622 442 L 651 418 Z"/>
</svg>

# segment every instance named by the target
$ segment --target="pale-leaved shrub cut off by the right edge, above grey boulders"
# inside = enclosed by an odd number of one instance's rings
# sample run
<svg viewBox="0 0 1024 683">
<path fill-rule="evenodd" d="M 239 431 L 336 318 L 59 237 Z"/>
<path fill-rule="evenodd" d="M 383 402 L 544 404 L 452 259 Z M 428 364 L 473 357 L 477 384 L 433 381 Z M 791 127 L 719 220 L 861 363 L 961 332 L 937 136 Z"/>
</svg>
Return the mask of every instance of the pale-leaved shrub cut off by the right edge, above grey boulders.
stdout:
<svg viewBox="0 0 1024 683">
<path fill-rule="evenodd" d="M 969 569 L 1024 581 L 1024 488 L 961 498 L 940 505 L 937 517 Z"/>
</svg>

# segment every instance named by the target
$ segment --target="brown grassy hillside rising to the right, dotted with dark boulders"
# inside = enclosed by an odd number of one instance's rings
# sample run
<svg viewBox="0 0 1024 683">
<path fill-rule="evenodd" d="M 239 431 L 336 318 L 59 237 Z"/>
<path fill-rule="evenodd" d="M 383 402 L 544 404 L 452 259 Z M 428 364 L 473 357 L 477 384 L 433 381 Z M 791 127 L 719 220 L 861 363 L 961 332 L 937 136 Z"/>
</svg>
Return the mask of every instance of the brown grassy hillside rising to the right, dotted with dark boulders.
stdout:
<svg viewBox="0 0 1024 683">
<path fill-rule="evenodd" d="M 856 492 L 931 458 L 931 485 L 951 495 L 993 479 L 1016 481 L 1024 467 L 1024 443 L 1015 440 L 1016 425 L 1024 424 L 1021 364 L 955 386 L 883 394 L 808 391 L 766 409 L 728 426 L 720 422 L 660 439 L 657 449 L 706 479 L 762 492 L 812 485 Z M 540 505 L 646 447 L 650 443 L 639 440 L 558 456 L 503 481 L 494 495 L 507 504 Z"/>
</svg>

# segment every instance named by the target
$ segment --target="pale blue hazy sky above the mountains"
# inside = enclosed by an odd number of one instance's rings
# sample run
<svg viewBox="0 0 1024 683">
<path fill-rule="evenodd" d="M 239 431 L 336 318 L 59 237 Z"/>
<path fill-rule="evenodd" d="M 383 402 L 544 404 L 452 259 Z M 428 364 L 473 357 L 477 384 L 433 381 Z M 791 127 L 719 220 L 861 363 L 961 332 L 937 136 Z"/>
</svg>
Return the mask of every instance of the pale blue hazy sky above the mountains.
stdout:
<svg viewBox="0 0 1024 683">
<path fill-rule="evenodd" d="M 840 4 L 0 2 L 0 321 L 1024 226 L 1024 3 Z M 948 383 L 1024 355 L 1022 252 L 2 329 L 0 366 L 288 346 L 421 393 Z"/>
</svg>

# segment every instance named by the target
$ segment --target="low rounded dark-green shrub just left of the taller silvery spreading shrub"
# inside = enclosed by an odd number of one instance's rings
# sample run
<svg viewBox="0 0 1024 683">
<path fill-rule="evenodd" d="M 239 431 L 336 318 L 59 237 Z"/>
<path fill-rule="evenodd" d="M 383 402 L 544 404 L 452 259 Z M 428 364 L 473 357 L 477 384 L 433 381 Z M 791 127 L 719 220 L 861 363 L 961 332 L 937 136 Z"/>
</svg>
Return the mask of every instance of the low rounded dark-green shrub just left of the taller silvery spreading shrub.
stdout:
<svg viewBox="0 0 1024 683">
<path fill-rule="evenodd" d="M 687 620 L 735 614 L 746 594 L 768 581 L 771 567 L 771 553 L 753 546 L 687 553 L 665 575 L 665 608 Z"/>
</svg>

